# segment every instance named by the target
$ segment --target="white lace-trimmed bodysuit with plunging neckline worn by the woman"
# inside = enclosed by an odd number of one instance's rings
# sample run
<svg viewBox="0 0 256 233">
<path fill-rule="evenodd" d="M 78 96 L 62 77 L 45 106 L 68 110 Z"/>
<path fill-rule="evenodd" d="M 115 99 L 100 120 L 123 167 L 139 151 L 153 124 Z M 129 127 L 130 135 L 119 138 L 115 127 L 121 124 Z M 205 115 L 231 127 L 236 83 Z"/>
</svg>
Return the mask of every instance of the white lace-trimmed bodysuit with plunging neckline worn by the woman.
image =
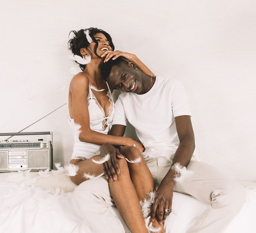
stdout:
<svg viewBox="0 0 256 233">
<path fill-rule="evenodd" d="M 96 97 L 92 93 L 91 88 L 89 88 L 89 93 L 87 96 L 87 105 L 90 116 L 90 128 L 94 131 L 108 134 L 109 125 L 111 124 L 114 116 L 114 108 L 115 104 L 113 102 L 113 98 L 111 95 L 111 91 L 109 89 L 108 83 L 106 82 L 108 87 L 107 96 L 109 97 L 110 106 L 108 108 L 108 116 L 105 116 L 104 109 L 98 103 Z M 75 127 L 74 119 L 70 119 L 71 126 Z M 106 125 L 106 128 L 104 129 Z M 75 141 L 73 146 L 73 153 L 71 159 L 87 159 L 96 154 L 99 154 L 100 145 L 83 142 L 78 138 L 79 134 L 75 133 Z"/>
</svg>

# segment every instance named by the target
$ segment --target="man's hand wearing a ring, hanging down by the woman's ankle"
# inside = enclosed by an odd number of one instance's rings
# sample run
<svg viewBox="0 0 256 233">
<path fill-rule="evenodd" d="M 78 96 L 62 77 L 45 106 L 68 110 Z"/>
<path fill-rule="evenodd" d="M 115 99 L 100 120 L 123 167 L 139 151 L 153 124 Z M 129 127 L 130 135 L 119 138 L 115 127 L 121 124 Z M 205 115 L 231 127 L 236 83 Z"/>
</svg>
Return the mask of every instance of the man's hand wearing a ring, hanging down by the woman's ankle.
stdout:
<svg viewBox="0 0 256 233">
<path fill-rule="evenodd" d="M 157 218 L 159 224 L 165 221 L 166 217 L 172 210 L 172 197 L 173 197 L 173 182 L 161 182 L 156 190 L 156 198 L 154 204 L 151 207 L 151 221 Z M 169 209 L 170 212 L 166 212 L 165 209 Z"/>
</svg>

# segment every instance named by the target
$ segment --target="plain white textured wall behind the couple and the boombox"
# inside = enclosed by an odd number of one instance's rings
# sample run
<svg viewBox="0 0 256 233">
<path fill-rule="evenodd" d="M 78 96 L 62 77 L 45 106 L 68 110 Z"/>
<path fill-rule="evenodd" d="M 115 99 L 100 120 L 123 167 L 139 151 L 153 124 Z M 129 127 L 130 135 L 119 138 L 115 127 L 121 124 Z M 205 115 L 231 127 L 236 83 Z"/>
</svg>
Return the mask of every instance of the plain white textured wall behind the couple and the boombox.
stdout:
<svg viewBox="0 0 256 233">
<path fill-rule="evenodd" d="M 1 1 L 0 132 L 17 132 L 67 102 L 75 66 L 68 33 L 88 27 L 107 31 L 116 49 L 155 74 L 181 80 L 200 159 L 256 182 L 253 0 Z M 68 162 L 72 152 L 67 114 L 65 105 L 26 130 L 54 132 L 55 161 Z"/>
</svg>

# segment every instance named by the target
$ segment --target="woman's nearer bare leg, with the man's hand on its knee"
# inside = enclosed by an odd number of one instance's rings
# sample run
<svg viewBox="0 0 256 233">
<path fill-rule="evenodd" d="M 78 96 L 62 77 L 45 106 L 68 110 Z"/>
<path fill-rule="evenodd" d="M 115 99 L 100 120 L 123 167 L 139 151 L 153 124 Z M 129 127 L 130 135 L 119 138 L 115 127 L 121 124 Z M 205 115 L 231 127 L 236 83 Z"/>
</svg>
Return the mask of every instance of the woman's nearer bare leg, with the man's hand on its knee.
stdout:
<svg viewBox="0 0 256 233">
<path fill-rule="evenodd" d="M 100 155 L 95 155 L 86 160 L 70 161 L 71 163 L 79 166 L 77 175 L 70 177 L 75 184 L 80 184 L 87 180 L 82 177 L 84 173 L 95 174 L 95 176 L 103 173 L 102 164 L 96 164 L 92 159 L 99 160 Z M 117 179 L 115 181 L 109 180 L 109 187 L 113 200 L 129 230 L 132 233 L 146 233 L 148 230 L 145 226 L 138 195 L 130 178 L 127 162 L 125 159 L 117 159 L 117 162 L 120 168 L 120 173 L 117 174 Z M 104 200 L 104 197 L 102 199 Z"/>
</svg>

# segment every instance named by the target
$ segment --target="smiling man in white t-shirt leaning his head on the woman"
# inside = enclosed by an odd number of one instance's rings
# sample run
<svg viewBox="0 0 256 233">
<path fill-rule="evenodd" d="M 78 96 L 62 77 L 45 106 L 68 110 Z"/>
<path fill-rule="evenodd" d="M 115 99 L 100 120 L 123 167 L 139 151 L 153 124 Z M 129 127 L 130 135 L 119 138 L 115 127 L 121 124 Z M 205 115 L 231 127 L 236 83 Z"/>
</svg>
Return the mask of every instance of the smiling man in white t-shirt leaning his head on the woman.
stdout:
<svg viewBox="0 0 256 233">
<path fill-rule="evenodd" d="M 116 101 L 110 133 L 123 136 L 129 121 L 145 147 L 143 156 L 157 187 L 151 221 L 164 222 L 176 191 L 210 204 L 189 232 L 222 232 L 243 206 L 245 189 L 215 167 L 198 161 L 188 97 L 182 83 L 150 77 L 122 58 L 104 63 L 102 77 L 125 92 Z M 102 147 L 107 151 L 109 145 Z M 190 172 L 179 177 L 178 171 L 184 171 L 184 167 Z"/>
</svg>

